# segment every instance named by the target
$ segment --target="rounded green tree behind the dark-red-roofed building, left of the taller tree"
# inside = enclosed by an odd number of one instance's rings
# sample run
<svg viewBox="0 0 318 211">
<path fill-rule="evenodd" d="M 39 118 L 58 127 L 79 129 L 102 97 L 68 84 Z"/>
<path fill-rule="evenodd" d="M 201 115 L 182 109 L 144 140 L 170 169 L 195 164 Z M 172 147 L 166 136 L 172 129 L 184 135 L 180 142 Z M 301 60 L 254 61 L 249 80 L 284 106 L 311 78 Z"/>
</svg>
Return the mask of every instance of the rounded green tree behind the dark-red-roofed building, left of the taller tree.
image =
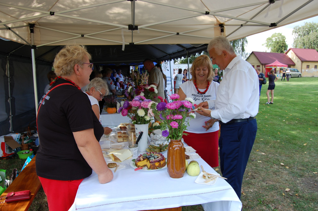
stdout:
<svg viewBox="0 0 318 211">
<path fill-rule="evenodd" d="M 286 37 L 282 33 L 274 33 L 271 37 L 267 37 L 266 43 L 263 45 L 273 53 L 285 53 L 288 49 Z"/>
</svg>

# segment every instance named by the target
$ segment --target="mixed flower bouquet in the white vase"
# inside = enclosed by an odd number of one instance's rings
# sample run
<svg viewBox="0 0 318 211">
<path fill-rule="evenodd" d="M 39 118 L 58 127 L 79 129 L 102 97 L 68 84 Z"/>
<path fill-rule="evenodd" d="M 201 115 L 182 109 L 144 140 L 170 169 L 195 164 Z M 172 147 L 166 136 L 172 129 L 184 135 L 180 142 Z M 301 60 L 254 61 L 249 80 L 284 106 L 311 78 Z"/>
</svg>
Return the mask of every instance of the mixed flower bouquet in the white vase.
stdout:
<svg viewBox="0 0 318 211">
<path fill-rule="evenodd" d="M 128 116 L 133 124 L 149 124 L 151 117 L 154 116 L 151 105 L 154 102 L 144 96 L 136 96 L 132 101 L 125 101 L 119 108 L 122 116 Z"/>
</svg>

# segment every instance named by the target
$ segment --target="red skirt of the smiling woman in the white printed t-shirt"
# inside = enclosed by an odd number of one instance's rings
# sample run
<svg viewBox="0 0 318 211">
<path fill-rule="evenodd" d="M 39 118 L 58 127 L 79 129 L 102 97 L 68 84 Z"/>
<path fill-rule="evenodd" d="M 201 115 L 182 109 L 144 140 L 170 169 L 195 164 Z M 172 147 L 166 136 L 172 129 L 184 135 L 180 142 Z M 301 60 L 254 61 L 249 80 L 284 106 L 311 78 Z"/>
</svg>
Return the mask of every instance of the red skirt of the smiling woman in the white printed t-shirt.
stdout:
<svg viewBox="0 0 318 211">
<path fill-rule="evenodd" d="M 188 133 L 182 136 L 187 145 L 192 146 L 211 167 L 218 167 L 218 131 L 211 133 Z"/>
</svg>

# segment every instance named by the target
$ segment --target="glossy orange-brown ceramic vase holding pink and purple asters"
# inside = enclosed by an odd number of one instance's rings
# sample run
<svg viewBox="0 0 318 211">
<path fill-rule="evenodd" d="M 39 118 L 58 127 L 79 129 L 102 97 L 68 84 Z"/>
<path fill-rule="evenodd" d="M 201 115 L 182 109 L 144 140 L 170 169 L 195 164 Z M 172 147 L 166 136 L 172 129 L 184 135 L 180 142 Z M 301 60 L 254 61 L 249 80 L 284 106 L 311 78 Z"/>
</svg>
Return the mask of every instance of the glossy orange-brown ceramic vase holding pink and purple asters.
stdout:
<svg viewBox="0 0 318 211">
<path fill-rule="evenodd" d="M 170 177 L 183 177 L 185 172 L 185 154 L 181 140 L 170 139 L 168 145 L 167 168 Z"/>
</svg>

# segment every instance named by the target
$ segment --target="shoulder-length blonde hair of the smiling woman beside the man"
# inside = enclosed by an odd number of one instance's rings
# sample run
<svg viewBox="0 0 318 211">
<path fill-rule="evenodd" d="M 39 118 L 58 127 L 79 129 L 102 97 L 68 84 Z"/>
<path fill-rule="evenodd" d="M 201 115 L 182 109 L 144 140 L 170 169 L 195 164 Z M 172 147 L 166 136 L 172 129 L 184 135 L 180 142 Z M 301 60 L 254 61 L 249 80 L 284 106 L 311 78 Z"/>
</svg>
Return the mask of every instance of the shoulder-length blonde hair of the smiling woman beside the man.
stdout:
<svg viewBox="0 0 318 211">
<path fill-rule="evenodd" d="M 190 73 L 192 75 L 191 81 L 197 80 L 196 74 L 195 74 L 195 70 L 198 67 L 208 67 L 209 71 L 208 71 L 208 78 L 207 81 L 212 81 L 214 75 L 213 72 L 213 65 L 211 62 L 211 59 L 207 56 L 207 55 L 201 55 L 198 56 L 192 63 L 192 66 L 190 68 Z"/>
</svg>

